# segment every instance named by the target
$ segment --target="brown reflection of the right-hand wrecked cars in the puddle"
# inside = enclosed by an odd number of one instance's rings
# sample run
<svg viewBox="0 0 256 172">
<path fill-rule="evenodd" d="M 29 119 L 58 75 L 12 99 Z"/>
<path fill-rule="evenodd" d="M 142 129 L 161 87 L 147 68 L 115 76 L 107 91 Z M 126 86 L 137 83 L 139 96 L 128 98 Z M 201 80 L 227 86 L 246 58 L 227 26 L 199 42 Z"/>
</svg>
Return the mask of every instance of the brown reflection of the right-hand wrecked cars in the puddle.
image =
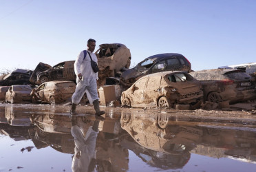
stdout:
<svg viewBox="0 0 256 172">
<path fill-rule="evenodd" d="M 191 153 L 256 162 L 256 129 L 211 122 L 177 122 L 167 114 L 122 114 L 121 126 L 138 145 L 128 144 L 143 161 L 180 169 Z"/>
</svg>

